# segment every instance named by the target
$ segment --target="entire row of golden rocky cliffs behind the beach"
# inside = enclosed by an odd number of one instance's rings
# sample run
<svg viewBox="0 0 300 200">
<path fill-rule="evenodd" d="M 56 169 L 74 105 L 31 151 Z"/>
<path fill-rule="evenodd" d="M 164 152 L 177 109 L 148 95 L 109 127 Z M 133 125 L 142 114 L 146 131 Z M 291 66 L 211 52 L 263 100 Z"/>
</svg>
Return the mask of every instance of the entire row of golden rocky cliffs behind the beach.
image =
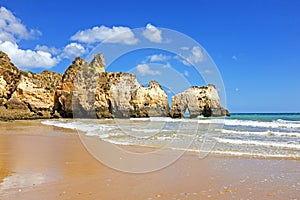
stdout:
<svg viewBox="0 0 300 200">
<path fill-rule="evenodd" d="M 65 73 L 41 74 L 19 70 L 0 52 L 0 119 L 51 117 L 123 118 L 223 116 L 229 112 L 220 105 L 213 85 L 194 86 L 172 97 L 156 81 L 144 87 L 135 75 L 105 72 L 102 54 L 91 63 L 77 57 Z"/>
</svg>

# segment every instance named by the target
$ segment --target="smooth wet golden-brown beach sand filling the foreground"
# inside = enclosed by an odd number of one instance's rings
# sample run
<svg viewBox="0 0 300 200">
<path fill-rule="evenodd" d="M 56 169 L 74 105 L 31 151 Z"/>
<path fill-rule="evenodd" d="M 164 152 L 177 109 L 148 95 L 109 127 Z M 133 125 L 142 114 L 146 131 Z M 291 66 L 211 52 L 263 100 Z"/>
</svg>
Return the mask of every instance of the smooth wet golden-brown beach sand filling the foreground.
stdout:
<svg viewBox="0 0 300 200">
<path fill-rule="evenodd" d="M 138 147 L 126 150 L 144 151 Z M 297 160 L 212 155 L 199 159 L 185 154 L 164 169 L 130 174 L 97 161 L 76 131 L 40 121 L 0 122 L 1 200 L 299 197 Z"/>
</svg>

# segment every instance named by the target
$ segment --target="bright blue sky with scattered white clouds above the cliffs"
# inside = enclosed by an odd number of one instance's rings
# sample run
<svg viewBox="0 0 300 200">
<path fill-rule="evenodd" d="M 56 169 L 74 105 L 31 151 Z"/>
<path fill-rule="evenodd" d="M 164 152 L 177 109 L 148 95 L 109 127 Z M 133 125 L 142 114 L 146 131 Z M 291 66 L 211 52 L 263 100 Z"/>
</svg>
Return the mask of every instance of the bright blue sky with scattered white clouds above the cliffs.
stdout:
<svg viewBox="0 0 300 200">
<path fill-rule="evenodd" d="M 300 112 L 300 1 L 0 0 L 0 50 L 20 69 L 63 73 L 97 48 L 170 93 L 221 81 L 230 112 Z"/>
</svg>

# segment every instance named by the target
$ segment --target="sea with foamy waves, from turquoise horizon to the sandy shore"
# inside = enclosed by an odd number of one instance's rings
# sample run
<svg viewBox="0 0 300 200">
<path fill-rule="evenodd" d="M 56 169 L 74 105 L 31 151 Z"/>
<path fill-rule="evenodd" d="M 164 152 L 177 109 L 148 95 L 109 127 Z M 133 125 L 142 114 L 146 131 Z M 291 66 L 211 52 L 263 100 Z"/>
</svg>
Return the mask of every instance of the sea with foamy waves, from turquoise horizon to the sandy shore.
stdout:
<svg viewBox="0 0 300 200">
<path fill-rule="evenodd" d="M 300 158 L 300 113 L 236 113 L 224 118 L 57 119 L 46 125 L 76 129 L 112 144 L 199 154 Z"/>
</svg>

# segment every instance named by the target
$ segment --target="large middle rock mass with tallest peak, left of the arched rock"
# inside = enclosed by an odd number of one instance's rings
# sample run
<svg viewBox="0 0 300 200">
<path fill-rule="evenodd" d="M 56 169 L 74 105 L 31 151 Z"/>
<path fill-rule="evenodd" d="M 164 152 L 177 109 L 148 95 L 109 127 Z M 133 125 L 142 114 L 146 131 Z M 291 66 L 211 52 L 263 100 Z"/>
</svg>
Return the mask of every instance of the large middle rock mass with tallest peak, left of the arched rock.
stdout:
<svg viewBox="0 0 300 200">
<path fill-rule="evenodd" d="M 133 74 L 103 72 L 104 65 L 102 55 L 90 64 L 76 58 L 55 93 L 56 113 L 84 118 L 169 115 L 167 95 L 157 82 L 151 81 L 145 88 Z"/>
</svg>

